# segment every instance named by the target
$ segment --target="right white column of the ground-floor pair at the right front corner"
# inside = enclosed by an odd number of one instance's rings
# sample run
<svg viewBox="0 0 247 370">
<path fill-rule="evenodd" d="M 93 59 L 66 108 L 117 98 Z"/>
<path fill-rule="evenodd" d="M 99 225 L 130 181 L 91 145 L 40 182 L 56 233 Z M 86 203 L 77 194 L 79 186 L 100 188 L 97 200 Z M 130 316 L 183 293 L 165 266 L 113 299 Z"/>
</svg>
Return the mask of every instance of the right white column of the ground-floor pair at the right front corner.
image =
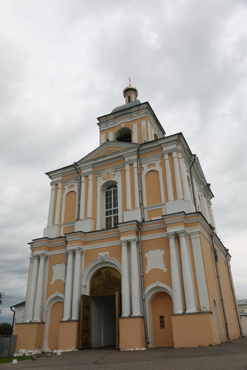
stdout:
<svg viewBox="0 0 247 370">
<path fill-rule="evenodd" d="M 192 275 L 189 264 L 189 256 L 185 240 L 185 231 L 177 232 L 180 240 L 180 250 L 182 259 L 183 286 L 186 301 L 186 312 L 196 312 L 196 302 L 193 290 Z"/>
</svg>

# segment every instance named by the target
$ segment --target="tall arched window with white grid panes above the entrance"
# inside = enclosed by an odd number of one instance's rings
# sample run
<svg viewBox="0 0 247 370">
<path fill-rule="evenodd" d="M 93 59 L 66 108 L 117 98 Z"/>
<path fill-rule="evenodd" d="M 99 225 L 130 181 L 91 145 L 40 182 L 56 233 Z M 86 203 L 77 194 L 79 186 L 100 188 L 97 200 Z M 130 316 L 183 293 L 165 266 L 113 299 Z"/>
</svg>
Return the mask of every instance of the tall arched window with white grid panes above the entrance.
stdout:
<svg viewBox="0 0 247 370">
<path fill-rule="evenodd" d="M 117 185 L 106 188 L 106 229 L 116 227 L 118 223 Z"/>
</svg>

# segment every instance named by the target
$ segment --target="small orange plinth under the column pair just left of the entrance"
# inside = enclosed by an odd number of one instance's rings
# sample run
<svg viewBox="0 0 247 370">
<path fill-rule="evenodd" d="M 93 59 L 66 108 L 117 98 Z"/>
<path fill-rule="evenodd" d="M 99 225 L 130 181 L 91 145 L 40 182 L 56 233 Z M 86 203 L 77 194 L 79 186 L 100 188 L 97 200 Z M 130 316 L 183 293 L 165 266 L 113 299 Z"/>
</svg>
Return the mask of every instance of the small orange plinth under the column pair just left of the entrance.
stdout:
<svg viewBox="0 0 247 370">
<path fill-rule="evenodd" d="M 58 349 L 78 349 L 79 348 L 79 321 L 60 321 Z"/>
</svg>

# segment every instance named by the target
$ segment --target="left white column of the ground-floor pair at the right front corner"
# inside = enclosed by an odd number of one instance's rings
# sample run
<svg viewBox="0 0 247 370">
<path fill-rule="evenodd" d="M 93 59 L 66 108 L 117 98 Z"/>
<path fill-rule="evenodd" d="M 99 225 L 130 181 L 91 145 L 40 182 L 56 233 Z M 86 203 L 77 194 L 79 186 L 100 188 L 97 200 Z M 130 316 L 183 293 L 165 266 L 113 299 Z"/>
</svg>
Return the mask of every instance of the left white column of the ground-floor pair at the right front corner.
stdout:
<svg viewBox="0 0 247 370">
<path fill-rule="evenodd" d="M 174 313 L 183 312 L 182 288 L 180 282 L 178 260 L 176 256 L 175 232 L 167 234 L 170 244 L 170 258 L 171 258 L 171 275 L 173 288 L 173 309 Z"/>
</svg>

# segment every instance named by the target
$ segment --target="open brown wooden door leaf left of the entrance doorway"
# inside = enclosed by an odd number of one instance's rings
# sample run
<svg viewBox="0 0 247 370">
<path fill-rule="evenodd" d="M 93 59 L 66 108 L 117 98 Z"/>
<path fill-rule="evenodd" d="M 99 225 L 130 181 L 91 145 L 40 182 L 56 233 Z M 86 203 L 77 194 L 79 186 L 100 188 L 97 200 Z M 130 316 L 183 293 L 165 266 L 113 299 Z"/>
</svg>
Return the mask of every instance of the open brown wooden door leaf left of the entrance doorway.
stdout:
<svg viewBox="0 0 247 370">
<path fill-rule="evenodd" d="M 81 295 L 80 304 L 80 349 L 90 348 L 91 341 L 91 297 Z"/>
</svg>

